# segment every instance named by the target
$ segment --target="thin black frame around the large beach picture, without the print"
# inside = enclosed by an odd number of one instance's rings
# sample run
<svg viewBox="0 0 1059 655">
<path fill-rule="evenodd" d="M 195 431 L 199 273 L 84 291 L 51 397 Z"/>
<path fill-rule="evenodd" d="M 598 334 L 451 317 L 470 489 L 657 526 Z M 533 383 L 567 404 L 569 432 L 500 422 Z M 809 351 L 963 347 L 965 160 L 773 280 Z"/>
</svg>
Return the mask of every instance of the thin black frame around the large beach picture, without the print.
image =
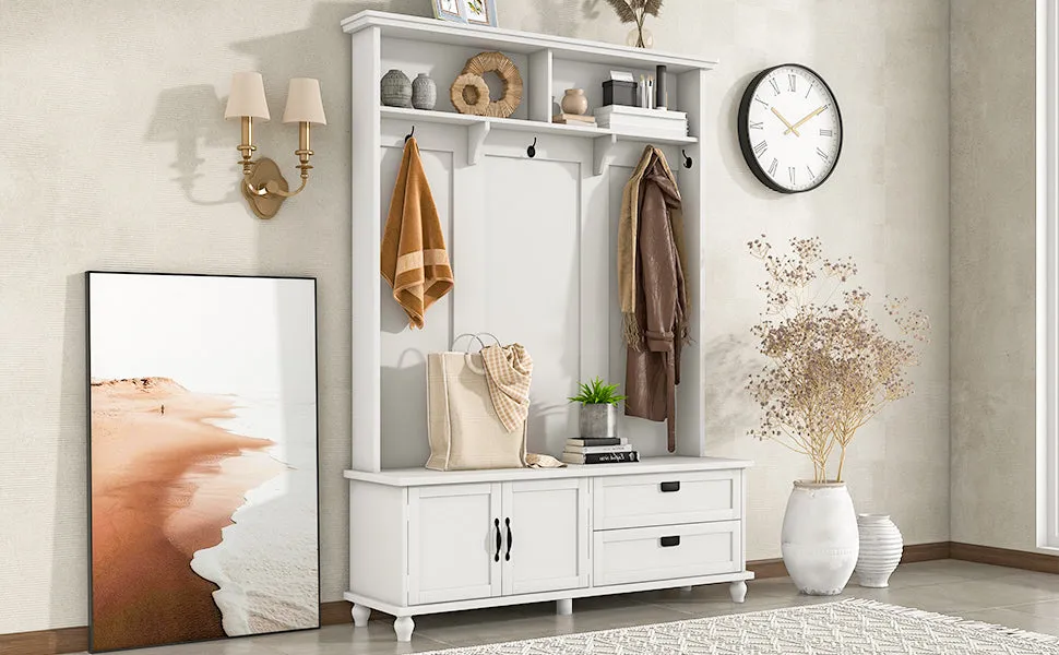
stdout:
<svg viewBox="0 0 1059 655">
<path fill-rule="evenodd" d="M 215 639 L 190 639 L 183 641 L 169 641 L 159 644 L 138 644 L 122 647 L 110 647 L 110 648 L 98 648 L 96 647 L 96 634 L 94 630 L 94 553 L 93 553 L 93 460 L 92 460 L 92 416 L 93 416 L 93 405 L 92 405 L 92 278 L 95 275 L 139 275 L 139 276 L 159 276 L 159 277 L 190 277 L 190 278 L 234 278 L 234 279 L 289 279 L 289 281 L 304 281 L 311 282 L 311 299 L 312 299 L 312 347 L 313 347 L 313 385 L 314 385 L 314 396 L 313 396 L 313 424 L 314 424 L 314 452 L 316 452 L 316 563 L 317 563 L 317 624 L 307 628 L 296 628 L 291 630 L 279 630 L 274 632 L 260 632 L 245 635 L 235 636 L 218 636 Z M 88 270 L 84 272 L 84 298 L 85 298 L 85 460 L 86 460 L 86 489 L 85 497 L 86 502 L 86 514 L 87 514 L 87 527 L 88 527 L 88 539 L 87 539 L 87 632 L 88 632 L 88 652 L 91 653 L 107 653 L 107 652 L 123 652 L 123 651 L 134 651 L 143 647 L 154 647 L 158 645 L 181 645 L 190 643 L 206 643 L 211 641 L 227 641 L 231 639 L 242 639 L 250 636 L 261 636 L 264 634 L 284 634 L 288 632 L 304 632 L 307 630 L 319 630 L 321 627 L 320 621 L 320 606 L 322 603 L 322 573 L 321 573 L 321 559 L 320 559 L 320 307 L 319 307 L 319 285 L 316 277 L 310 276 L 295 276 L 295 275 L 245 275 L 245 274 L 209 274 L 209 273 L 174 273 L 174 272 L 143 272 L 143 271 L 102 271 L 102 270 Z M 190 564 L 190 562 L 189 562 Z"/>
</svg>

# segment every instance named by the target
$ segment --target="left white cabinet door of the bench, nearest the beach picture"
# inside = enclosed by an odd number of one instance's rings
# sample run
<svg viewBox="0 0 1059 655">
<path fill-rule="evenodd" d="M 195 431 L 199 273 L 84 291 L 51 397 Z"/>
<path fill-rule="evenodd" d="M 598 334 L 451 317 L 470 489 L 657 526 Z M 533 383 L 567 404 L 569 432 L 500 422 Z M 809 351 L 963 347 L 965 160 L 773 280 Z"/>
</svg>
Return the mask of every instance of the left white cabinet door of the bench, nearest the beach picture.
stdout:
<svg viewBox="0 0 1059 655">
<path fill-rule="evenodd" d="M 408 604 L 500 595 L 500 485 L 408 490 Z"/>
</svg>

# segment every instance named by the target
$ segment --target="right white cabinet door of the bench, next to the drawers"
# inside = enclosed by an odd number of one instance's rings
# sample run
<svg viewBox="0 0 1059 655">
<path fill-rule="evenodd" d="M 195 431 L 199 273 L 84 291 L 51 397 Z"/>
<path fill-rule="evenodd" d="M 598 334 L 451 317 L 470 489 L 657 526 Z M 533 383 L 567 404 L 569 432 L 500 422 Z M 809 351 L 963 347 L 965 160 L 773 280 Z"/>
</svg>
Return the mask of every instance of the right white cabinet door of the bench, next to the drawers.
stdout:
<svg viewBox="0 0 1059 655">
<path fill-rule="evenodd" d="M 502 487 L 503 594 L 588 586 L 588 480 Z"/>
</svg>

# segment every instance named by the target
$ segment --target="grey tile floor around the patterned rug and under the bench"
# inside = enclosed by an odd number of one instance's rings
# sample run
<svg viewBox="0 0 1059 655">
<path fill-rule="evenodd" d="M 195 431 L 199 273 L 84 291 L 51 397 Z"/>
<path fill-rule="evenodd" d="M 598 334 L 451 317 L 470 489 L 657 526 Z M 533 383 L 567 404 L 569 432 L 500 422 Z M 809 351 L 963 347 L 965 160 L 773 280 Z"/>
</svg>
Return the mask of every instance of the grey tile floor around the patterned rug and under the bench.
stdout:
<svg viewBox="0 0 1059 655">
<path fill-rule="evenodd" d="M 1059 575 L 1031 573 L 956 560 L 901 567 L 888 590 L 867 590 L 850 583 L 842 597 L 873 598 L 1059 635 Z M 644 592 L 624 596 L 574 600 L 573 616 L 555 616 L 555 604 L 542 603 L 416 618 L 410 644 L 397 644 L 393 627 L 371 621 L 367 629 L 352 624 L 321 630 L 236 639 L 166 648 L 135 651 L 136 655 L 382 655 L 421 653 L 452 646 L 550 636 L 679 621 L 740 611 L 825 603 L 832 598 L 800 596 L 786 577 L 750 583 L 743 605 L 728 599 L 727 585 L 680 591 Z"/>
</svg>

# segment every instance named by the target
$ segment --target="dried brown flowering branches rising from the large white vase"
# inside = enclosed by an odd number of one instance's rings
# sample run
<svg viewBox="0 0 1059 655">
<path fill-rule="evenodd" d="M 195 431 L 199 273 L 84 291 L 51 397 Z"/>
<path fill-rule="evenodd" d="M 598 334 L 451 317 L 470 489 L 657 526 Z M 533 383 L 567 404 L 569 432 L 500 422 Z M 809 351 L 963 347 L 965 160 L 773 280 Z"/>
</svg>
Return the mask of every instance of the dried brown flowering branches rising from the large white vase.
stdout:
<svg viewBox="0 0 1059 655">
<path fill-rule="evenodd" d="M 828 260 L 819 238 L 792 239 L 793 253 L 772 254 L 762 235 L 747 243 L 768 281 L 765 311 L 752 333 L 771 361 L 750 376 L 747 390 L 763 416 L 750 434 L 771 439 L 812 461 L 813 481 L 830 481 L 828 461 L 837 445 L 842 481 L 846 450 L 857 430 L 888 404 L 912 393 L 906 370 L 919 364 L 930 323 L 907 299 L 883 305 L 902 337 L 890 338 L 868 312 L 869 294 L 845 288 L 857 274 L 853 259 Z"/>
</svg>

